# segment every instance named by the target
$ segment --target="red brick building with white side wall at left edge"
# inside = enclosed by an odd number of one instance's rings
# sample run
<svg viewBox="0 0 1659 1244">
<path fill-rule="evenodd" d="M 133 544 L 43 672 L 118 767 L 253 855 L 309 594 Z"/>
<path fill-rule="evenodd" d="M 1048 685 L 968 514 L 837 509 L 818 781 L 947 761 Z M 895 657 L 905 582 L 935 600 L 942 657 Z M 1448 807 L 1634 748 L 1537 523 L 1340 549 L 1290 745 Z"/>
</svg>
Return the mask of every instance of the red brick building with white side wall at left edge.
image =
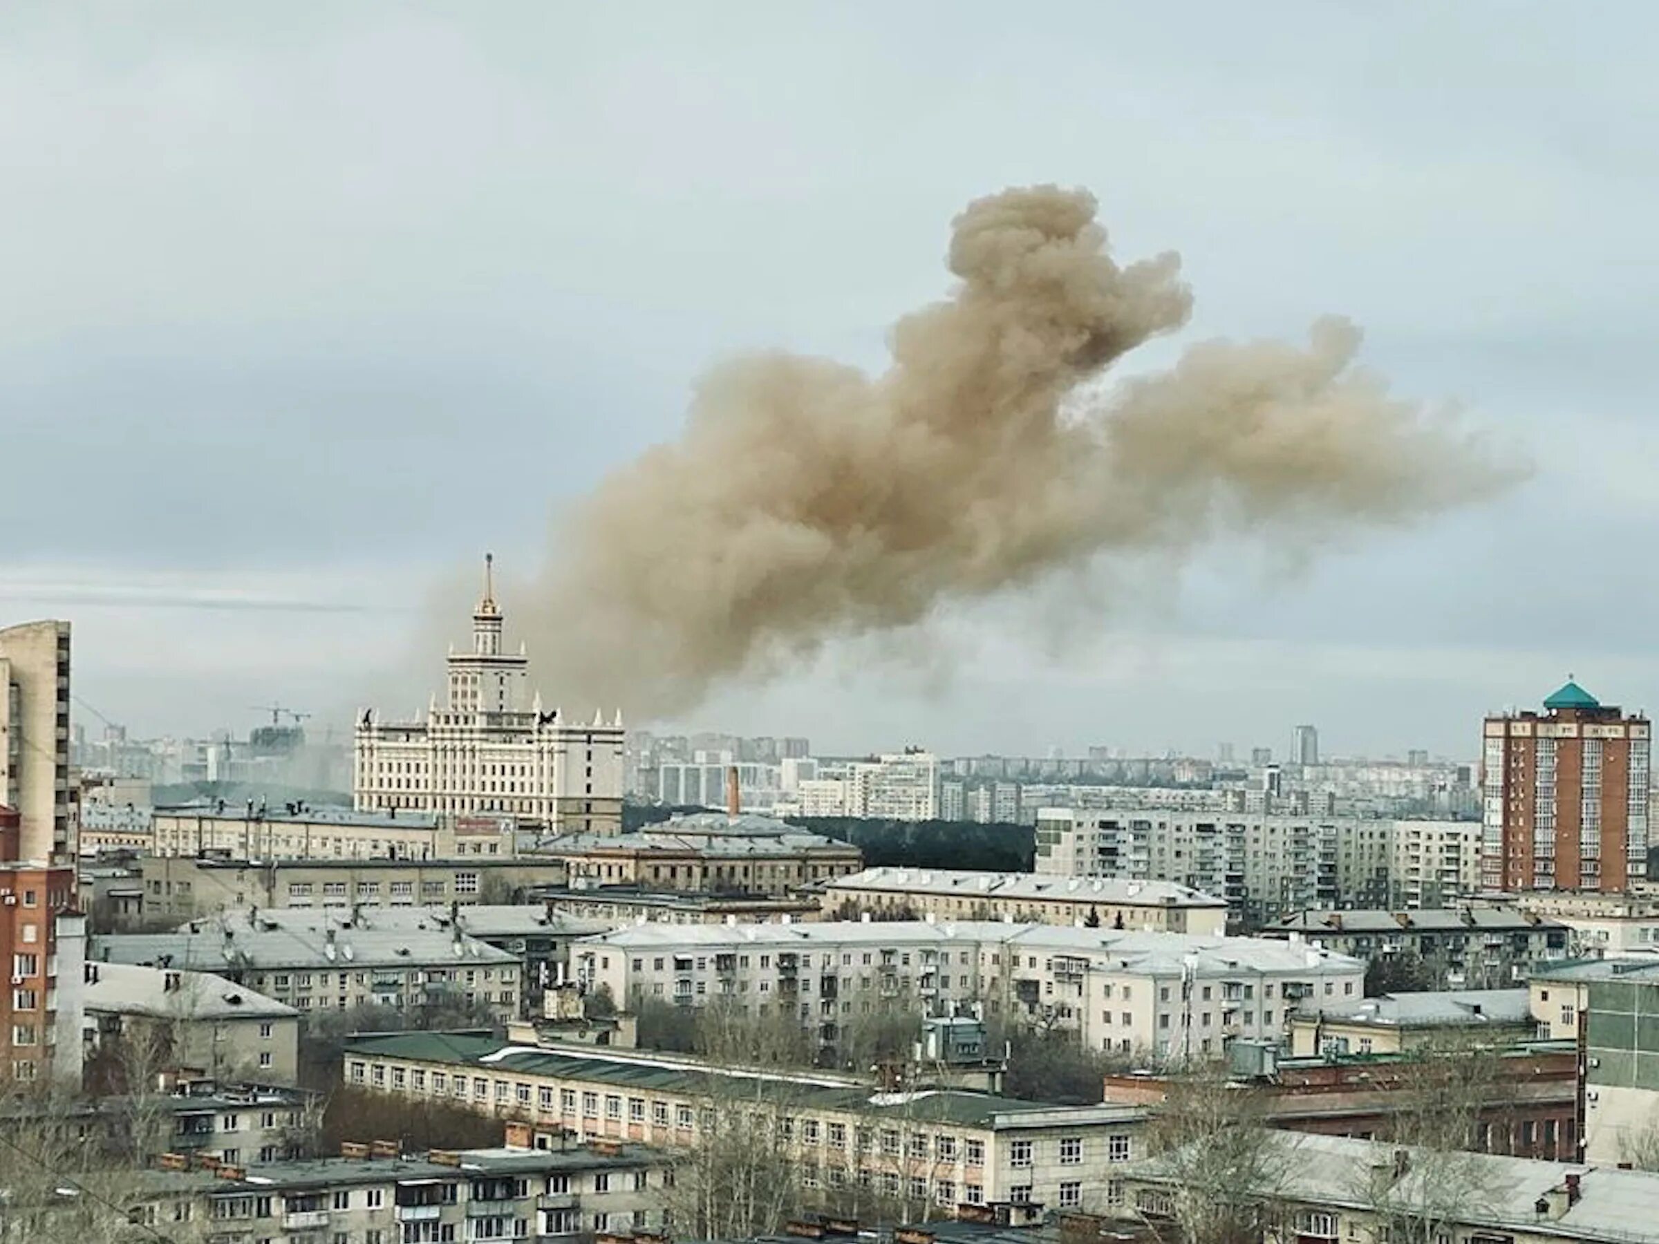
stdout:
<svg viewBox="0 0 1659 1244">
<path fill-rule="evenodd" d="M 75 914 L 75 869 L 45 861 L 20 861 L 22 816 L 0 804 L 0 1095 L 12 1088 L 45 1083 L 53 1063 L 73 1075 L 80 1050 L 60 1045 L 58 987 L 68 982 L 71 1000 L 80 997 L 81 942 Z M 61 945 L 60 934 L 73 934 Z M 68 949 L 66 962 L 60 950 Z M 63 1040 L 80 1042 L 80 1022 L 66 1025 Z"/>
</svg>

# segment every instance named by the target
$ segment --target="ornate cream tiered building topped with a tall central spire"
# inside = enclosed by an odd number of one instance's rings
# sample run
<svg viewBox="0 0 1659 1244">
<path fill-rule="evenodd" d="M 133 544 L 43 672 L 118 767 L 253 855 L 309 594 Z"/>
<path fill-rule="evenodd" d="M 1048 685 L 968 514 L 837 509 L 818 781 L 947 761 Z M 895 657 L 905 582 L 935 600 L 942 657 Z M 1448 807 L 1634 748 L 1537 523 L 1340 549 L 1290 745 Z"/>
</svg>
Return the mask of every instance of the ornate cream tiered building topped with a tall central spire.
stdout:
<svg viewBox="0 0 1659 1244">
<path fill-rule="evenodd" d="M 473 610 L 473 650 L 451 652 L 448 698 L 425 720 L 362 715 L 353 798 L 360 811 L 506 814 L 552 831 L 620 833 L 622 715 L 582 723 L 526 705 L 529 657 L 503 650 L 503 614 L 489 559 Z"/>
</svg>

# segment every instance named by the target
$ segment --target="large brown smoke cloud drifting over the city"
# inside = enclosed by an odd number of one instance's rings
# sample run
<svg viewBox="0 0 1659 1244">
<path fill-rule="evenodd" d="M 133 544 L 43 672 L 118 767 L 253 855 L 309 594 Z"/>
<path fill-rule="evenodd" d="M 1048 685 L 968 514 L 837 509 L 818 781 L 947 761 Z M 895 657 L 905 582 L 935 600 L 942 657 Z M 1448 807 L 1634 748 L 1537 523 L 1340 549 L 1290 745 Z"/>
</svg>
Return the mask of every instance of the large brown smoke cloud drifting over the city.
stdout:
<svg viewBox="0 0 1659 1244">
<path fill-rule="evenodd" d="M 954 292 L 898 322 L 884 373 L 786 353 L 717 367 L 679 441 L 577 504 L 529 610 L 544 687 L 634 720 L 684 712 L 826 640 L 1113 552 L 1326 537 L 1515 476 L 1357 370 L 1339 318 L 1306 345 L 1208 342 L 1166 373 L 1090 383 L 1180 328 L 1191 294 L 1173 254 L 1113 262 L 1083 191 L 969 204 L 949 267 Z"/>
</svg>

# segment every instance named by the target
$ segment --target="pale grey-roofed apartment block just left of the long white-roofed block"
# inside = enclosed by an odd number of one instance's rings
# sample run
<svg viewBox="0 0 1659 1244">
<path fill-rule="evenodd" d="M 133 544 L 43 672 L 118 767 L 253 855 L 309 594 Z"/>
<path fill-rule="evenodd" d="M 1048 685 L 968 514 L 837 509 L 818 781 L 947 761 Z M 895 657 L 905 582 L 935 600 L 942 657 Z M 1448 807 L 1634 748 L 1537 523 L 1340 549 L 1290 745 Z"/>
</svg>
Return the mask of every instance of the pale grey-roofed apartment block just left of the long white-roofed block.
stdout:
<svg viewBox="0 0 1659 1244">
<path fill-rule="evenodd" d="M 93 939 L 100 964 L 214 972 L 307 1010 L 420 1008 L 451 997 L 518 1018 L 518 955 L 453 929 L 237 929 L 199 921 L 179 932 Z"/>
</svg>

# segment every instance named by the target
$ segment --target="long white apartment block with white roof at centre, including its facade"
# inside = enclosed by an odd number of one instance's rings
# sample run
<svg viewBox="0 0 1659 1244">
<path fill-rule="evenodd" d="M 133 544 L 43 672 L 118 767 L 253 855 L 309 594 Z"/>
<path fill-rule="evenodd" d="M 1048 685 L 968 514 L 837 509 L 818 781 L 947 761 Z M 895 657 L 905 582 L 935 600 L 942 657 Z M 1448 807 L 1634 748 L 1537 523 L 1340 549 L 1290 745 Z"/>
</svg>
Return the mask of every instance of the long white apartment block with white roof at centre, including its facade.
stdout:
<svg viewBox="0 0 1659 1244">
<path fill-rule="evenodd" d="M 1045 924 L 823 921 L 619 929 L 579 944 L 577 977 L 619 1002 L 727 999 L 798 1015 L 820 1043 L 881 1010 L 984 1003 L 1078 1033 L 1097 1050 L 1158 1060 L 1277 1037 L 1304 999 L 1357 1000 L 1364 964 L 1258 937 Z M 773 1008 L 778 1008 L 776 1012 Z"/>
</svg>

